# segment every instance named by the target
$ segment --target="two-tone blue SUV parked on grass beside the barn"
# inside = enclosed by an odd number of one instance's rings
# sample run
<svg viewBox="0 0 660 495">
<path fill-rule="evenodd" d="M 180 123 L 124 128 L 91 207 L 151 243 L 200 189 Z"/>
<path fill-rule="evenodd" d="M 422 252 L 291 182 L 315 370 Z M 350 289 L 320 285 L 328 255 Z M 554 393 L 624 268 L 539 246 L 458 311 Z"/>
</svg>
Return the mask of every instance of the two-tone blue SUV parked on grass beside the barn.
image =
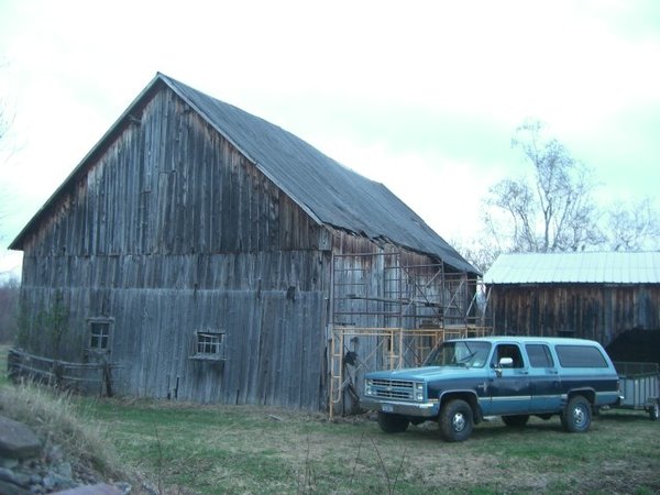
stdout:
<svg viewBox="0 0 660 495">
<path fill-rule="evenodd" d="M 421 367 L 367 373 L 361 406 L 377 411 L 385 432 L 436 420 L 455 442 L 488 416 L 522 427 L 532 415 L 559 415 L 566 431 L 584 432 L 594 410 L 619 399 L 617 372 L 597 342 L 490 337 L 444 341 Z"/>
</svg>

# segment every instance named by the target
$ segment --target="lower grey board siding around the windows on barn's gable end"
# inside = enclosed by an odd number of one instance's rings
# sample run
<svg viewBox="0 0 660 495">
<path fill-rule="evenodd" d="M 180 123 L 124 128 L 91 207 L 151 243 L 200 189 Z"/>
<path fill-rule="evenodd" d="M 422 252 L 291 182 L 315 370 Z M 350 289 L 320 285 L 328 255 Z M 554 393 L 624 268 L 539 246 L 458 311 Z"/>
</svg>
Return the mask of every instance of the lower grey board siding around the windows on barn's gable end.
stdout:
<svg viewBox="0 0 660 495">
<path fill-rule="evenodd" d="M 61 292 L 70 308 L 57 356 L 86 361 L 86 319 L 112 318 L 116 393 L 228 404 L 323 406 L 324 293 L 96 289 Z M 52 289 L 31 289 L 50 300 Z M 224 361 L 197 361 L 194 332 L 220 330 Z M 42 333 L 50 354 L 53 341 Z"/>
</svg>

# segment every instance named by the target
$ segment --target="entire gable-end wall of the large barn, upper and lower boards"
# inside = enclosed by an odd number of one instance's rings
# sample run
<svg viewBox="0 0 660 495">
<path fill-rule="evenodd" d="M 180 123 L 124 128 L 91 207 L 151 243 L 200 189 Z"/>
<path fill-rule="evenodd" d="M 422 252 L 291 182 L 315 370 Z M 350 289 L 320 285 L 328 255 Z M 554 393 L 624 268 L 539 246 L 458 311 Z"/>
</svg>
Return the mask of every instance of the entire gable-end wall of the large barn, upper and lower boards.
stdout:
<svg viewBox="0 0 660 495">
<path fill-rule="evenodd" d="M 322 408 L 328 232 L 172 91 L 134 117 L 25 242 L 21 343 L 95 359 L 105 318 L 120 394 Z M 189 359 L 199 330 L 224 361 Z"/>
</svg>

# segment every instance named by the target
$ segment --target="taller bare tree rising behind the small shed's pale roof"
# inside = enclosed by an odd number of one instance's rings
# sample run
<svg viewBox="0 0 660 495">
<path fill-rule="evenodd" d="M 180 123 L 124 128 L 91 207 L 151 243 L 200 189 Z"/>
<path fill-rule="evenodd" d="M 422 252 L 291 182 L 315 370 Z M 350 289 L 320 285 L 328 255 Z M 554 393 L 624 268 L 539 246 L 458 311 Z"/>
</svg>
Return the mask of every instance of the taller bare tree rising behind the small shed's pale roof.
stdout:
<svg viewBox="0 0 660 495">
<path fill-rule="evenodd" d="M 603 242 L 592 200 L 593 170 L 573 160 L 556 139 L 542 136 L 539 121 L 526 121 L 512 145 L 532 166 L 529 179 L 507 178 L 490 189 L 491 234 L 508 238 L 515 252 L 575 251 Z"/>
</svg>

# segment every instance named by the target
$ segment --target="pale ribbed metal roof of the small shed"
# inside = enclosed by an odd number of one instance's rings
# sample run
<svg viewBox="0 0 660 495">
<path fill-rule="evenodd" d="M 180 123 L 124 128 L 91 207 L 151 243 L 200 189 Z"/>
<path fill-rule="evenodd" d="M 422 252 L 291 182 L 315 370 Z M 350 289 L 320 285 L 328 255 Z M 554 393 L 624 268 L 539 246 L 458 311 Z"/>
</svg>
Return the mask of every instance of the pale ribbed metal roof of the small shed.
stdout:
<svg viewBox="0 0 660 495">
<path fill-rule="evenodd" d="M 660 284 L 660 252 L 502 254 L 486 284 Z"/>
</svg>

